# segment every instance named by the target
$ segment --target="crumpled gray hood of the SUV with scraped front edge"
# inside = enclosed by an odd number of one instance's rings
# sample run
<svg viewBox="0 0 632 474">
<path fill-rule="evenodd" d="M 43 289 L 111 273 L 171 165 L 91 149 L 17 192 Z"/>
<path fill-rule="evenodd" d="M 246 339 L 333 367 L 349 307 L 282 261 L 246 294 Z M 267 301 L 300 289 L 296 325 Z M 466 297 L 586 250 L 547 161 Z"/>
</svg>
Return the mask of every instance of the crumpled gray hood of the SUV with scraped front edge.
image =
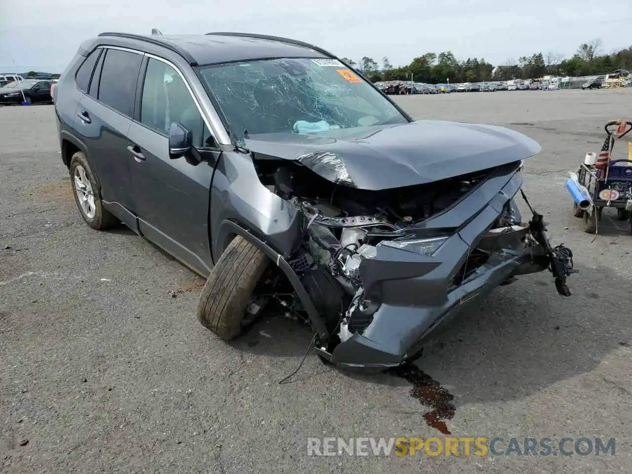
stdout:
<svg viewBox="0 0 632 474">
<path fill-rule="evenodd" d="M 420 185 L 536 155 L 542 147 L 504 127 L 438 120 L 274 133 L 245 140 L 255 157 L 298 161 L 325 179 L 366 190 Z"/>
</svg>

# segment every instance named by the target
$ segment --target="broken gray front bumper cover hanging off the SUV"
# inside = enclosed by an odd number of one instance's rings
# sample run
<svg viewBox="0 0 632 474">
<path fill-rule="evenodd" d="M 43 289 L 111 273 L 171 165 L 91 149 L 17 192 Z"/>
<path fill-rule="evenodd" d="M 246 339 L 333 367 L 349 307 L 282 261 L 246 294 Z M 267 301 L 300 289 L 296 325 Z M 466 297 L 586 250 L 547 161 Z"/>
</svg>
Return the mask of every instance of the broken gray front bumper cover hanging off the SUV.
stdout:
<svg viewBox="0 0 632 474">
<path fill-rule="evenodd" d="M 516 184 L 510 181 L 504 190 Z M 516 195 L 519 186 L 513 193 L 503 193 L 507 201 Z M 557 292 L 571 295 L 566 277 L 576 271 L 573 254 L 563 245 L 550 246 L 542 216 L 522 195 L 533 214 L 526 225 L 510 226 L 496 235 L 490 233 L 490 224 L 499 215 L 497 206 L 490 203 L 432 250 L 432 256 L 377 245 L 375 256 L 360 265 L 366 301 L 360 305 L 365 314 L 359 317 L 365 317 L 367 325 L 337 344 L 331 353 L 319 344 L 317 352 L 342 368 L 385 370 L 415 358 L 454 317 L 475 307 L 477 301 L 514 276 L 548 269 Z M 473 244 L 477 248 L 492 244 L 494 251 L 470 276 L 453 285 Z M 353 318 L 351 315 L 351 321 Z"/>
</svg>

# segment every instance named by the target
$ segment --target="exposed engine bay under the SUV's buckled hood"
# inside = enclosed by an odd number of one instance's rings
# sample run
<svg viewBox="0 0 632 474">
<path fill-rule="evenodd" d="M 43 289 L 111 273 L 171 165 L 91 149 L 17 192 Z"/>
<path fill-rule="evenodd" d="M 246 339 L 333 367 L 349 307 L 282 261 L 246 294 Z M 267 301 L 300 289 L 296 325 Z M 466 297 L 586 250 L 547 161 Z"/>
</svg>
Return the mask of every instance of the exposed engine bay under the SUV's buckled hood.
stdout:
<svg viewBox="0 0 632 474">
<path fill-rule="evenodd" d="M 332 183 L 293 162 L 262 160 L 256 167 L 262 184 L 304 216 L 303 234 L 288 263 L 327 325 L 332 337 L 322 343 L 330 352 L 336 344 L 362 332 L 379 305 L 363 284 L 362 261 L 374 258 L 380 243 L 403 248 L 403 241 L 419 238 L 420 234 L 422 253 L 432 255 L 434 247 L 457 229 L 428 231 L 423 222 L 453 207 L 495 171 L 487 169 L 423 185 L 369 191 Z M 476 248 L 471 248 L 446 291 L 475 278 L 478 270 L 499 255 L 508 258 L 511 252 L 517 254 L 529 246 L 540 246 L 542 242 L 536 236 L 544 231 L 544 224 L 540 222 L 542 229 L 538 230 L 520 219 L 514 201 L 507 202 Z M 523 273 L 546 269 L 553 260 L 559 260 L 559 273 L 573 272 L 570 251 L 563 246 L 549 246 L 547 255 L 549 244 L 545 239 L 544 243 L 542 255 L 534 253 L 533 270 Z M 560 284 L 565 286 L 563 281 Z M 562 294 L 560 288 L 558 291 Z M 292 312 L 301 312 L 297 298 L 283 305 Z"/>
</svg>

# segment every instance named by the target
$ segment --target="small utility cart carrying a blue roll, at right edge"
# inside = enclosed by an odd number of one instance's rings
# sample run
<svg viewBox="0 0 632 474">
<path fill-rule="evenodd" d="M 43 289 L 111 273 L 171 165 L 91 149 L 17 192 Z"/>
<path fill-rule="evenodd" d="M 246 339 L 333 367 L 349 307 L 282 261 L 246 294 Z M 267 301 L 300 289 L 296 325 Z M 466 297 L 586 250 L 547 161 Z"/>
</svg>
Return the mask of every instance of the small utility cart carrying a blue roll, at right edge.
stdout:
<svg viewBox="0 0 632 474">
<path fill-rule="evenodd" d="M 574 216 L 583 219 L 584 231 L 596 234 L 604 207 L 614 207 L 617 219 L 630 222 L 632 234 L 632 144 L 629 140 L 624 142 L 626 157 L 612 157 L 614 144 L 632 130 L 632 123 L 612 120 L 604 129 L 606 138 L 599 154 L 586 154 L 576 173 L 571 173 L 566 181 L 566 188 L 573 197 Z"/>
</svg>

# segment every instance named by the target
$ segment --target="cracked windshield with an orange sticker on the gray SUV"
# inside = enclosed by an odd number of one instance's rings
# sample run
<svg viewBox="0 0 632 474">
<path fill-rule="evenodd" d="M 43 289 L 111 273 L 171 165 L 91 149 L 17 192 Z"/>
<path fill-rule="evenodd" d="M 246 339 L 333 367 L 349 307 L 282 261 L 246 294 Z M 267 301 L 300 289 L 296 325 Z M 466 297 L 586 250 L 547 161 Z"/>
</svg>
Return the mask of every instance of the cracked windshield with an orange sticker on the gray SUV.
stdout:
<svg viewBox="0 0 632 474">
<path fill-rule="evenodd" d="M 336 59 L 264 59 L 200 68 L 237 135 L 315 133 L 405 123 L 370 84 Z"/>
</svg>

